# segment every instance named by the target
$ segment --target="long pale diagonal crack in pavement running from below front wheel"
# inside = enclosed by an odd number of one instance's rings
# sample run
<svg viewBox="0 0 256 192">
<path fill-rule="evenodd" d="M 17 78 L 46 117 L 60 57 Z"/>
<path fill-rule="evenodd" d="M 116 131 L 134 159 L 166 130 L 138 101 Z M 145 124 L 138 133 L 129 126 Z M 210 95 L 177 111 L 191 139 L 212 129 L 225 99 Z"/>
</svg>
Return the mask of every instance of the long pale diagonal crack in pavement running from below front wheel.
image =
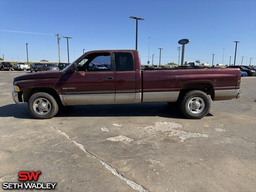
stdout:
<svg viewBox="0 0 256 192">
<path fill-rule="evenodd" d="M 50 125 L 51 127 L 53 127 L 58 133 L 62 134 L 63 136 L 65 136 L 68 140 L 72 141 L 76 146 L 78 146 L 83 152 L 85 152 L 86 154 L 89 154 L 90 156 L 92 156 L 94 159 L 96 159 L 98 162 L 100 162 L 107 170 L 109 170 L 112 174 L 114 174 L 115 176 L 117 176 L 118 178 L 120 178 L 121 180 L 123 180 L 124 182 L 126 182 L 126 184 L 128 184 L 131 188 L 133 188 L 134 190 L 137 190 L 139 192 L 148 192 L 146 189 L 144 189 L 144 187 L 138 183 L 136 183 L 133 180 L 130 180 L 129 178 L 126 178 L 125 176 L 123 176 L 122 174 L 120 174 L 116 168 L 110 166 L 109 164 L 107 164 L 106 162 L 104 162 L 103 160 L 101 160 L 100 158 L 98 158 L 97 156 L 95 156 L 94 154 L 92 154 L 91 152 L 88 152 L 86 150 L 86 148 L 84 147 L 83 144 L 78 143 L 77 141 L 73 140 L 72 138 L 70 138 L 70 136 L 68 134 L 66 134 L 65 132 L 59 130 L 58 128 L 56 128 L 55 126 L 49 124 L 48 122 L 46 122 L 48 125 Z"/>
</svg>

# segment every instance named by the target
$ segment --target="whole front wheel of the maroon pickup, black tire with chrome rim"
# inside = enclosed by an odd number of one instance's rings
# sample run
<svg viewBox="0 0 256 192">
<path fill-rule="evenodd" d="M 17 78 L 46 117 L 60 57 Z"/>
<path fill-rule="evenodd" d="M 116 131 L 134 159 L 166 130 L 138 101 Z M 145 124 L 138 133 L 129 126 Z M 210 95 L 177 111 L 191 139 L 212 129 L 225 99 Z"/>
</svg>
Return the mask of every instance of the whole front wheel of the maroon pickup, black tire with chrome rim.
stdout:
<svg viewBox="0 0 256 192">
<path fill-rule="evenodd" d="M 36 119 L 50 119 L 58 110 L 56 99 L 48 93 L 35 93 L 28 100 L 28 111 Z"/>
</svg>

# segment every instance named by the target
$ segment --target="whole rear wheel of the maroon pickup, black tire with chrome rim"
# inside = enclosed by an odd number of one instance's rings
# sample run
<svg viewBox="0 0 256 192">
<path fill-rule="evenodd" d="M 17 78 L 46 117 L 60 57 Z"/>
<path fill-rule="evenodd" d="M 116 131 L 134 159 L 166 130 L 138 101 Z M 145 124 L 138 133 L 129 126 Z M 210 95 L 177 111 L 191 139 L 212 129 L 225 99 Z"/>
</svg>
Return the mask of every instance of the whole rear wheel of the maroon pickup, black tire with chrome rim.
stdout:
<svg viewBox="0 0 256 192">
<path fill-rule="evenodd" d="M 193 90 L 184 95 L 180 101 L 181 112 L 190 119 L 201 119 L 208 114 L 211 100 L 205 92 Z"/>
</svg>

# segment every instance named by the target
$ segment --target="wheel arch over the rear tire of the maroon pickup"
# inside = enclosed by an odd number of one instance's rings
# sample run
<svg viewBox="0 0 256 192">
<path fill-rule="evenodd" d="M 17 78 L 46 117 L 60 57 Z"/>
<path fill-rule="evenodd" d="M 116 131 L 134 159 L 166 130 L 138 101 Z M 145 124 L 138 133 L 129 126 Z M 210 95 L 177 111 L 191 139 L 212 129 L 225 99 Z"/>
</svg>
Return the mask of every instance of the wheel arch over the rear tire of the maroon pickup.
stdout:
<svg viewBox="0 0 256 192">
<path fill-rule="evenodd" d="M 210 95 L 212 100 L 214 99 L 214 88 L 210 83 L 188 83 L 182 86 L 179 94 L 179 98 L 192 90 L 200 90 Z"/>
</svg>

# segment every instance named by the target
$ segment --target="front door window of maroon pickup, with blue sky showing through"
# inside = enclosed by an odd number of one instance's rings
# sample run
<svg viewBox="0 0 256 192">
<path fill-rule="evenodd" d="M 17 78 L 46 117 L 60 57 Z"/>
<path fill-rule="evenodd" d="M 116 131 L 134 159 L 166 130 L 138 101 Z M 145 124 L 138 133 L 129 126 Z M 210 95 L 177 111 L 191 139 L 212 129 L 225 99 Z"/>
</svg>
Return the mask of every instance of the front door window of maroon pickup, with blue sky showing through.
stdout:
<svg viewBox="0 0 256 192">
<path fill-rule="evenodd" d="M 110 53 L 92 53 L 77 64 L 78 71 L 111 71 Z"/>
</svg>

